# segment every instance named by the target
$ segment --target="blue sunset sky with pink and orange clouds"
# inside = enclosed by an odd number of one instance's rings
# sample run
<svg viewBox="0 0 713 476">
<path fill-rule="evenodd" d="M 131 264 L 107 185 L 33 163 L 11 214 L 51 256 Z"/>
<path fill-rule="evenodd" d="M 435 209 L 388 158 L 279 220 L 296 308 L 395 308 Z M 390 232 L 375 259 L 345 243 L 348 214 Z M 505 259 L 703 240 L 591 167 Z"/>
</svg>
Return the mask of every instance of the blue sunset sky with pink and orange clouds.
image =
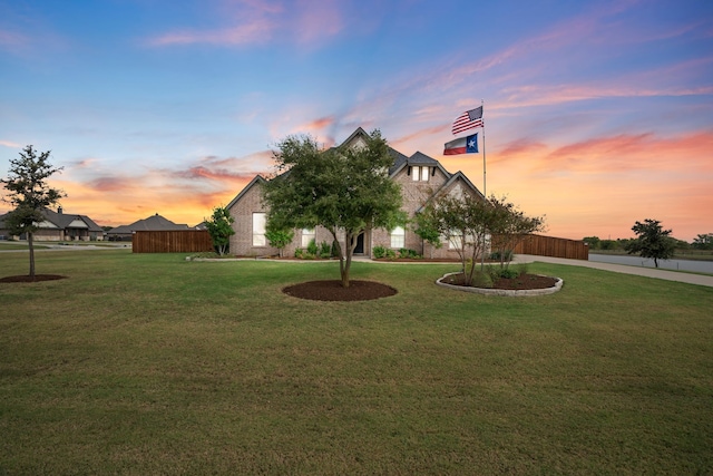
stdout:
<svg viewBox="0 0 713 476">
<path fill-rule="evenodd" d="M 480 105 L 481 153 L 445 156 Z M 0 177 L 51 150 L 65 213 L 99 225 L 198 224 L 282 139 L 360 126 L 547 235 L 652 218 L 691 242 L 713 233 L 713 1 L 0 0 Z"/>
</svg>

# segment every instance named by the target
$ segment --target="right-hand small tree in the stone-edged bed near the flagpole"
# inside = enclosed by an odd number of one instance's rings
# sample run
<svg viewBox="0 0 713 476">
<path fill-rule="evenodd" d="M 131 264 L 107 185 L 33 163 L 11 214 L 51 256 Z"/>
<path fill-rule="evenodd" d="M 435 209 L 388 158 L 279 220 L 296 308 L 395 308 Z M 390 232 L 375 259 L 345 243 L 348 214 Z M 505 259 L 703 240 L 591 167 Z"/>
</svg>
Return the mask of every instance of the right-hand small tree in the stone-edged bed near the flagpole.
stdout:
<svg viewBox="0 0 713 476">
<path fill-rule="evenodd" d="M 527 216 L 518 207 L 501 198 L 490 195 L 492 213 L 488 223 L 488 231 L 492 237 L 492 245 L 500 256 L 500 269 L 507 269 L 509 261 L 506 256 L 515 246 L 529 234 L 545 230 L 544 216 Z M 506 264 L 507 263 L 507 264 Z"/>
</svg>

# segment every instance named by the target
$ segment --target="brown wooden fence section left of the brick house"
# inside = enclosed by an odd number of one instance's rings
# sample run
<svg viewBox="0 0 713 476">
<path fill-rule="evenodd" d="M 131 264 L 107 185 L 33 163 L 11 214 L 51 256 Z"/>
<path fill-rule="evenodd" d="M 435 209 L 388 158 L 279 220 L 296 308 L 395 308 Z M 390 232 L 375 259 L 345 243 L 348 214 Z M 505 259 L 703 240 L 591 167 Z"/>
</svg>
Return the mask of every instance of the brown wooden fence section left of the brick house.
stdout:
<svg viewBox="0 0 713 476">
<path fill-rule="evenodd" d="M 140 231 L 131 236 L 134 253 L 198 253 L 213 251 L 205 230 Z"/>
</svg>

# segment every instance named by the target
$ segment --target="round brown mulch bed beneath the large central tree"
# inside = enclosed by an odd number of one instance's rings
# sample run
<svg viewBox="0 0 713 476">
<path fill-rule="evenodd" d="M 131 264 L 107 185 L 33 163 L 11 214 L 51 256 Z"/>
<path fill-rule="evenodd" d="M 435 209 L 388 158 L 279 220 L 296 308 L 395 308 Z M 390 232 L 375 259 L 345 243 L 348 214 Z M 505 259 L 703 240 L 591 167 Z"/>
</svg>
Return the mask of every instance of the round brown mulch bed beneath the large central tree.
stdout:
<svg viewBox="0 0 713 476">
<path fill-rule="evenodd" d="M 398 291 L 375 281 L 350 280 L 349 288 L 342 288 L 340 280 L 307 281 L 282 290 L 287 295 L 313 301 L 368 301 L 388 298 Z"/>
</svg>

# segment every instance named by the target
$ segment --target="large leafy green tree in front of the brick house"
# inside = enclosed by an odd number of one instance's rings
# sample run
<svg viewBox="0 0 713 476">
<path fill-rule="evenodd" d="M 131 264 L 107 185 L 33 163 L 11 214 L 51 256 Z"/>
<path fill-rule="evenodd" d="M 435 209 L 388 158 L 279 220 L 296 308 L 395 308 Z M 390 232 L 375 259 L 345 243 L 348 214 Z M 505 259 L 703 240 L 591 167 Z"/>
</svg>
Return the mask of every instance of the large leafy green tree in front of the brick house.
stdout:
<svg viewBox="0 0 713 476">
<path fill-rule="evenodd" d="M 280 175 L 263 184 L 267 226 L 326 229 L 336 242 L 342 286 L 348 288 L 359 235 L 390 227 L 399 217 L 401 190 L 389 178 L 387 140 L 377 129 L 354 147 L 323 149 L 312 137 L 290 136 L 277 148 Z"/>
</svg>

